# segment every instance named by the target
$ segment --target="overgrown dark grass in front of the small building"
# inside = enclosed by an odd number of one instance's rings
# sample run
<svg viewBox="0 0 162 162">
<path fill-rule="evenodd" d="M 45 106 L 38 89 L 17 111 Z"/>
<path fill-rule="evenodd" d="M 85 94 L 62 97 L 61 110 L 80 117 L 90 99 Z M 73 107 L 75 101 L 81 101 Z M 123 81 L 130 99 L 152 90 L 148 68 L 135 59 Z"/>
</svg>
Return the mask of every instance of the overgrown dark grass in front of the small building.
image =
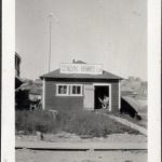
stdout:
<svg viewBox="0 0 162 162">
<path fill-rule="evenodd" d="M 22 110 L 15 113 L 16 133 L 44 134 L 64 131 L 79 136 L 106 137 L 109 134 L 139 134 L 138 131 L 122 125 L 109 117 L 86 110 L 65 110 L 53 116 L 48 110 Z"/>
</svg>

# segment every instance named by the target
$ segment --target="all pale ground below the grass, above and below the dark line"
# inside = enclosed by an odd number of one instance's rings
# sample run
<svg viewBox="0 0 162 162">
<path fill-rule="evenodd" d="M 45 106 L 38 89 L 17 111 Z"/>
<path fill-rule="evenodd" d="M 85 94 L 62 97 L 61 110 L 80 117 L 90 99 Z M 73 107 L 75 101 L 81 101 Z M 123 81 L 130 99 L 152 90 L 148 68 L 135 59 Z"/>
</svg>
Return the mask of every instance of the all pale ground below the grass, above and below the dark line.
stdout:
<svg viewBox="0 0 162 162">
<path fill-rule="evenodd" d="M 125 147 L 147 149 L 147 137 L 135 134 L 111 134 L 106 138 L 82 139 L 68 133 L 46 134 L 44 140 L 37 136 L 16 136 L 16 146 L 44 148 L 89 148 L 86 151 L 50 151 L 16 149 L 16 162 L 147 162 L 147 150 L 123 150 Z M 94 151 L 94 148 L 112 150 Z M 119 150 L 122 149 L 123 151 Z"/>
</svg>

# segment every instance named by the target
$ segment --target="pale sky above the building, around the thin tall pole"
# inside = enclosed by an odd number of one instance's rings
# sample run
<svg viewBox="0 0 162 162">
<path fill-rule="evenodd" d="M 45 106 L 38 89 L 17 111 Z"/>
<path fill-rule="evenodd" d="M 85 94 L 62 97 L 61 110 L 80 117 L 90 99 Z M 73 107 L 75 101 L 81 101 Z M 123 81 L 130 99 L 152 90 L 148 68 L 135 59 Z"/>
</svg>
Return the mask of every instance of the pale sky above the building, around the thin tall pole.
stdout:
<svg viewBox="0 0 162 162">
<path fill-rule="evenodd" d="M 147 0 L 16 0 L 22 78 L 48 72 L 50 13 L 51 70 L 76 58 L 147 80 Z"/>
</svg>

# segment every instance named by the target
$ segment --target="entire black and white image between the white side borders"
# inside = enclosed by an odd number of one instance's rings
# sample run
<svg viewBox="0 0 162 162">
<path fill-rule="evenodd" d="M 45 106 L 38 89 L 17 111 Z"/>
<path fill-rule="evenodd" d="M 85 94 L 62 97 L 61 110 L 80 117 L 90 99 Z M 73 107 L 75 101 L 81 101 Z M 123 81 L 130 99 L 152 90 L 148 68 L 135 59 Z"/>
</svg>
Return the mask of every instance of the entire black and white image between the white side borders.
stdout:
<svg viewBox="0 0 162 162">
<path fill-rule="evenodd" d="M 149 161 L 148 15 L 148 0 L 15 0 L 13 161 Z"/>
</svg>

